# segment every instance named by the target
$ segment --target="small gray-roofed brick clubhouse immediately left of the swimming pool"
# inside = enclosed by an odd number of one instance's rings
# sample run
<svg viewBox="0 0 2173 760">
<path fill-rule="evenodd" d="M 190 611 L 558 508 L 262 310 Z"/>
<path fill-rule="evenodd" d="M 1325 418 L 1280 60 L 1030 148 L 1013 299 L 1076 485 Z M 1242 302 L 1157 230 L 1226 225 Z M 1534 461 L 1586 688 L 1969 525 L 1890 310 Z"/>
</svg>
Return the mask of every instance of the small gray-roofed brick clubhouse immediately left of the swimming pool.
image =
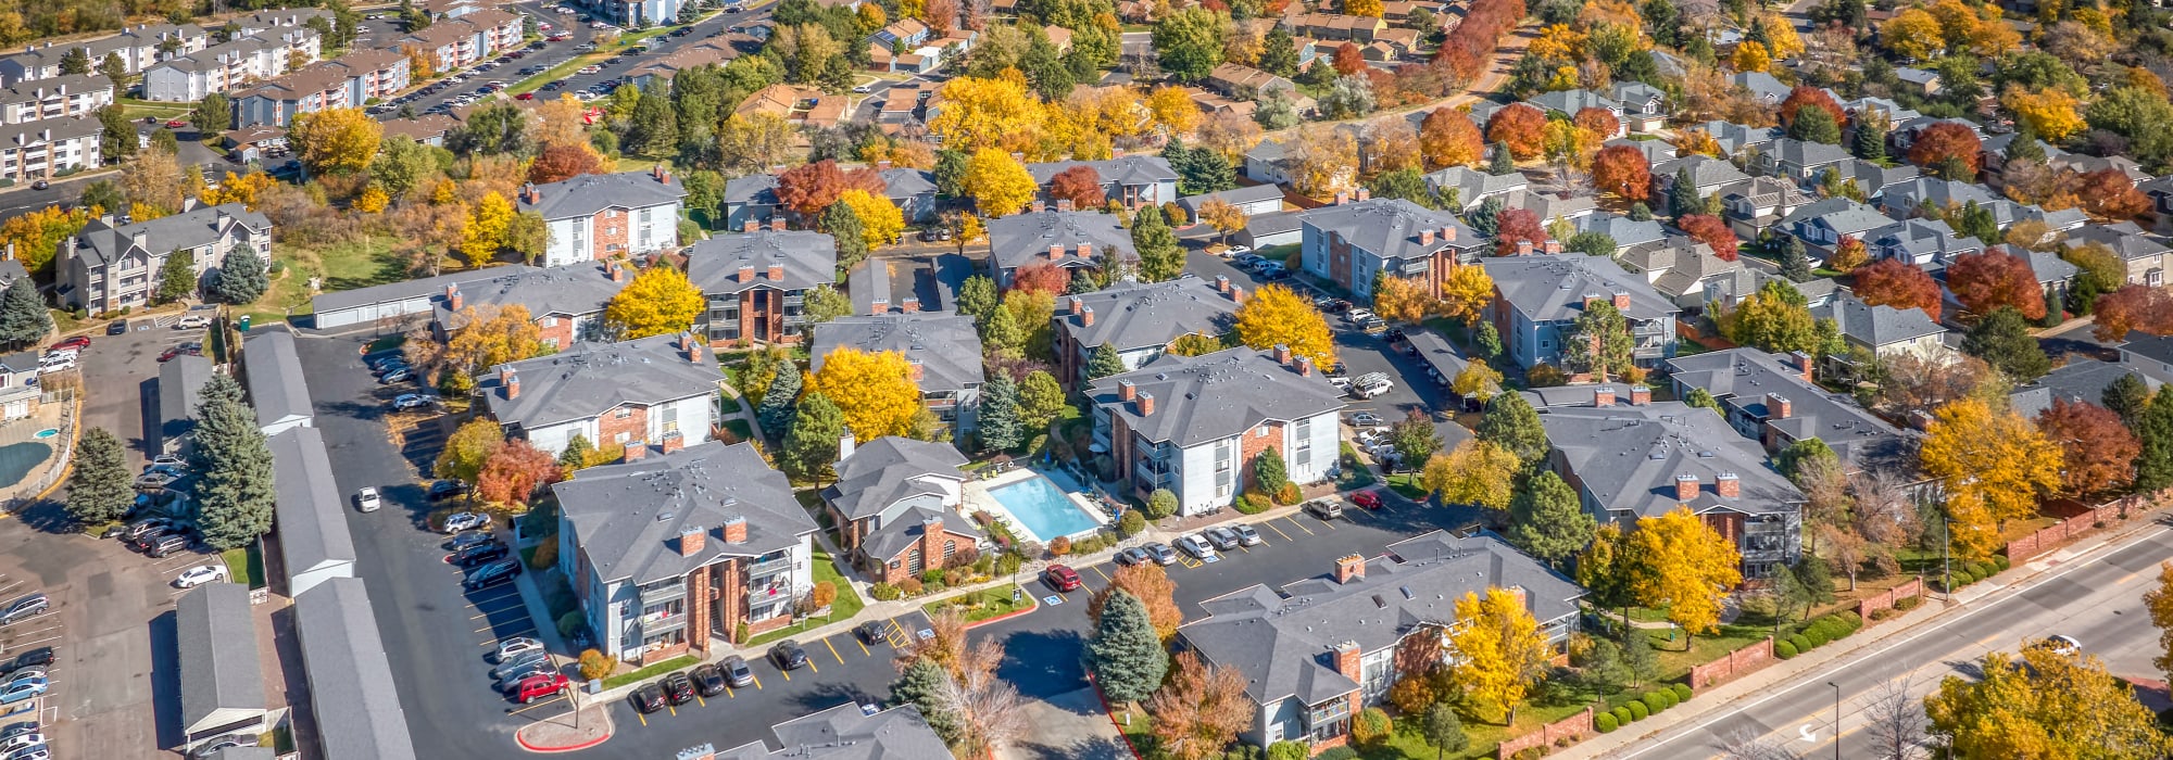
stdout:
<svg viewBox="0 0 2173 760">
<path fill-rule="evenodd" d="M 980 528 L 958 512 L 965 454 L 941 441 L 882 436 L 861 445 L 839 439 L 837 482 L 821 489 L 839 547 L 876 582 L 921 578 L 937 567 L 971 565 Z"/>
</svg>

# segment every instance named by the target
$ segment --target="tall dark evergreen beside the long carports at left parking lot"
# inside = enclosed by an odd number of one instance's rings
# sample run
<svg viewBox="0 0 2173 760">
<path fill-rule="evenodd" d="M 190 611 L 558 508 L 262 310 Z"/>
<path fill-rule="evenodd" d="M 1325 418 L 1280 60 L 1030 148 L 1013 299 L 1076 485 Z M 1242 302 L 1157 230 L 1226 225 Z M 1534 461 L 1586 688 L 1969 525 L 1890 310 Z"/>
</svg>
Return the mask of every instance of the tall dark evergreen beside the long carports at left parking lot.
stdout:
<svg viewBox="0 0 2173 760">
<path fill-rule="evenodd" d="M 254 258 L 254 256 L 252 256 Z M 230 376 L 211 376 L 196 406 L 198 530 L 233 549 L 272 530 L 272 449 Z"/>
</svg>

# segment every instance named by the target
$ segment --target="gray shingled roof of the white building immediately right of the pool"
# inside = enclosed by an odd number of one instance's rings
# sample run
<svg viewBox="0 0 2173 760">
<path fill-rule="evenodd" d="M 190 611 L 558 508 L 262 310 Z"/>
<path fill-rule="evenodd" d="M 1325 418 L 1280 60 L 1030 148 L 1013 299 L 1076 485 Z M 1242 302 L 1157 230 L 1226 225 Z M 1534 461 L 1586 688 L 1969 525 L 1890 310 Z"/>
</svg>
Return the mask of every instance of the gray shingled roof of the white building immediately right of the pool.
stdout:
<svg viewBox="0 0 2173 760">
<path fill-rule="evenodd" d="M 1117 397 L 1132 382 L 1141 397 L 1154 395 L 1154 415 Z M 1280 419 L 1330 415 L 1343 408 L 1343 393 L 1328 376 L 1297 373 L 1276 363 L 1269 350 L 1232 347 L 1204 356 L 1163 354 L 1126 373 L 1100 378 L 1086 391 L 1097 406 L 1123 417 L 1147 441 L 1195 445 L 1221 441 Z"/>
</svg>

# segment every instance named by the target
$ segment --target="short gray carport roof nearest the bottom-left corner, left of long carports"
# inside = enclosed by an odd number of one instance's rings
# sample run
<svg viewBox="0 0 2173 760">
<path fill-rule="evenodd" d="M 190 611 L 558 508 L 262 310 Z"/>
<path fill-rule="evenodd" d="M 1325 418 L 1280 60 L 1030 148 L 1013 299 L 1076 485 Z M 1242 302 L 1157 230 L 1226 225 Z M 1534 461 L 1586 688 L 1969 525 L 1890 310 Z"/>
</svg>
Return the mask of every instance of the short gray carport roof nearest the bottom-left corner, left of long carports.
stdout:
<svg viewBox="0 0 2173 760">
<path fill-rule="evenodd" d="M 180 725 L 219 710 L 265 710 L 265 675 L 256 656 L 250 588 L 202 584 L 174 599 L 174 645 L 180 649 Z"/>
</svg>

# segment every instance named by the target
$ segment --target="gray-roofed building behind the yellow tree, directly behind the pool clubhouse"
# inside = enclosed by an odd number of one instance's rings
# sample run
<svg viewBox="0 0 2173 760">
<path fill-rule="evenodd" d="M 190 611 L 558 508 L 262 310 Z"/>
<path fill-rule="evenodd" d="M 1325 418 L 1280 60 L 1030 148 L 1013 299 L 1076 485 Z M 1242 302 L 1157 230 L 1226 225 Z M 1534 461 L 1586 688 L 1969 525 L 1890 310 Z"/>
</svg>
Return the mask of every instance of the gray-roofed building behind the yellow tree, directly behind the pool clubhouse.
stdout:
<svg viewBox="0 0 2173 760">
<path fill-rule="evenodd" d="M 971 432 L 980 408 L 980 332 L 974 317 L 947 311 L 839 317 L 815 326 L 808 371 L 821 371 L 830 352 L 897 352 L 913 365 L 921 406 L 952 430 Z"/>
</svg>

